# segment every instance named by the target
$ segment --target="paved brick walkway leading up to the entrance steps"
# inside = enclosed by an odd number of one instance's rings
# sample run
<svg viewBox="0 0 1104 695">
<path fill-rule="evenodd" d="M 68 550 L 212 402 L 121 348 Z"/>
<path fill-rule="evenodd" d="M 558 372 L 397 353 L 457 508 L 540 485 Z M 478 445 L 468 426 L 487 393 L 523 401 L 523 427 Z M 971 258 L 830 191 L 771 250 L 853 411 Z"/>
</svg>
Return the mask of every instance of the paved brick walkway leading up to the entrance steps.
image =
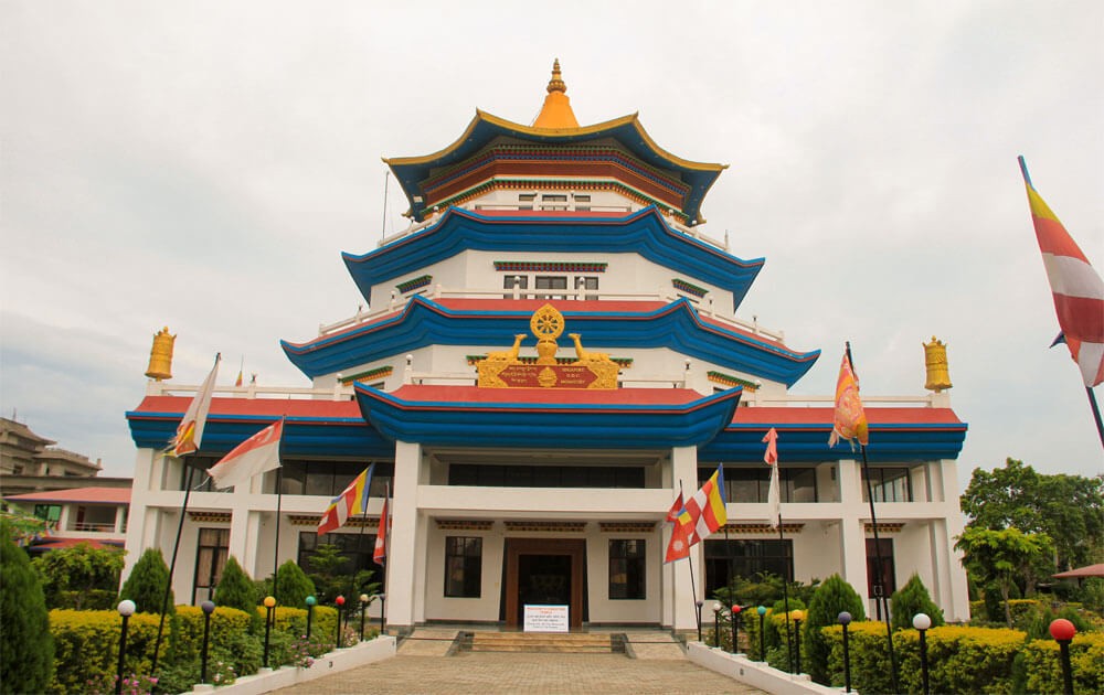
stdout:
<svg viewBox="0 0 1104 695">
<path fill-rule="evenodd" d="M 702 669 L 676 644 L 649 643 L 656 633 L 629 635 L 637 659 L 624 654 L 530 654 L 458 652 L 445 656 L 447 633 L 406 640 L 399 653 L 374 664 L 351 669 L 301 686 L 275 691 L 279 695 L 524 695 L 593 693 L 670 695 L 763 692 Z M 453 632 L 455 634 L 455 632 Z M 636 640 L 639 640 L 637 642 Z"/>
</svg>

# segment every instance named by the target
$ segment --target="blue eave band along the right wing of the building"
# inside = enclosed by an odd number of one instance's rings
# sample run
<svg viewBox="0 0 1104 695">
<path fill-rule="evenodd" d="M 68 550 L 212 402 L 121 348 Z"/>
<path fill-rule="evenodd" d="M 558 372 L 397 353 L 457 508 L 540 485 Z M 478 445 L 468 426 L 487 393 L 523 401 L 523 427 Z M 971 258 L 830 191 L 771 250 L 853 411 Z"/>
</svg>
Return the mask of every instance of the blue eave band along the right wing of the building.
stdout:
<svg viewBox="0 0 1104 695">
<path fill-rule="evenodd" d="M 774 427 L 778 431 L 778 460 L 785 463 L 821 463 L 845 459 L 862 460 L 856 445 L 828 446 L 831 425 L 790 428 L 786 424 L 730 425 L 708 446 L 699 449 L 699 461 L 762 463 L 763 437 Z M 957 459 L 966 441 L 966 424 L 959 426 L 915 423 L 870 426 L 867 460 L 871 463 L 921 463 Z"/>
</svg>

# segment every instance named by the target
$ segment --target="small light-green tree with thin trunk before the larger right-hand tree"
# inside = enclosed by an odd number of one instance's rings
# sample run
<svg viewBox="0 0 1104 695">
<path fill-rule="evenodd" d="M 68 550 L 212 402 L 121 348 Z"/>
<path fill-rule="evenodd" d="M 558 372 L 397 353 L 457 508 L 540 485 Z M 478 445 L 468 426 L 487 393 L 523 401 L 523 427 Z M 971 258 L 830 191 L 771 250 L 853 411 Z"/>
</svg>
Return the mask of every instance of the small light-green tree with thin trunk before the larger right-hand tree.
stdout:
<svg viewBox="0 0 1104 695">
<path fill-rule="evenodd" d="M 963 552 L 963 564 L 975 577 L 983 584 L 994 582 L 1000 589 L 1005 622 L 1011 628 L 1008 595 L 1012 584 L 1017 576 L 1052 552 L 1050 537 L 1044 533 L 1026 534 L 1018 528 L 966 528 L 955 547 Z"/>
</svg>

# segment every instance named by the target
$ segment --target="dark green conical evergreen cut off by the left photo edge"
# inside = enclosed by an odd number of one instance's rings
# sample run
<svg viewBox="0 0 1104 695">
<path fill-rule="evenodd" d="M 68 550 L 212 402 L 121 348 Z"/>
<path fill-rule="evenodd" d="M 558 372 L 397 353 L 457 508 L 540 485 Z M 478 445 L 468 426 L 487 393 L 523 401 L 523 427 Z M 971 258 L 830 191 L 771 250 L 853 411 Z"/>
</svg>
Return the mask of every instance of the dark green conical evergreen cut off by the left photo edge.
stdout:
<svg viewBox="0 0 1104 695">
<path fill-rule="evenodd" d="M 26 553 L 0 522 L 0 693 L 43 693 L 54 670 L 54 640 L 42 585 Z"/>
</svg>

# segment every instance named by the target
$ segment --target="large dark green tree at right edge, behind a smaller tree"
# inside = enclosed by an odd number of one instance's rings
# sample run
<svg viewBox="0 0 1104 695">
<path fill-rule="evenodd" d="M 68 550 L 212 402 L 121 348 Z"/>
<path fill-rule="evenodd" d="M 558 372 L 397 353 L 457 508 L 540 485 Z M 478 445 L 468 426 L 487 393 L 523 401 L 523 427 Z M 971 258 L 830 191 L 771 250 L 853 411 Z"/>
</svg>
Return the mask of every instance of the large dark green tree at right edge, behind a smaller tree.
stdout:
<svg viewBox="0 0 1104 695">
<path fill-rule="evenodd" d="M 1008 459 L 992 471 L 975 469 L 962 495 L 973 528 L 1019 528 L 1053 539 L 1055 569 L 1096 562 L 1104 548 L 1104 478 L 1038 473 Z M 1033 589 L 1031 577 L 1026 587 Z"/>
</svg>

